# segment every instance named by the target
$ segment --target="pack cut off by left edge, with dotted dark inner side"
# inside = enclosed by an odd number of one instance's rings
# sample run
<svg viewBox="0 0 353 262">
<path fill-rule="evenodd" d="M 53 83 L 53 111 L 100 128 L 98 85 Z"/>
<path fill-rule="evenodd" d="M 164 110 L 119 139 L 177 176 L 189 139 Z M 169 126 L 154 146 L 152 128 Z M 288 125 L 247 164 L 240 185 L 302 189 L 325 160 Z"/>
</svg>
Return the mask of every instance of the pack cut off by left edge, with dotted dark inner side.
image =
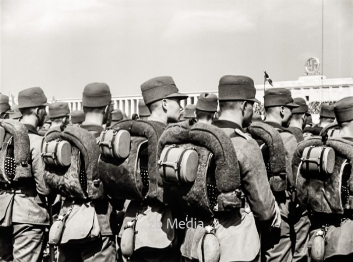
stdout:
<svg viewBox="0 0 353 262">
<path fill-rule="evenodd" d="M 0 149 L 0 182 L 32 177 L 32 155 L 24 124 L 13 119 L 0 122 Z"/>
</svg>

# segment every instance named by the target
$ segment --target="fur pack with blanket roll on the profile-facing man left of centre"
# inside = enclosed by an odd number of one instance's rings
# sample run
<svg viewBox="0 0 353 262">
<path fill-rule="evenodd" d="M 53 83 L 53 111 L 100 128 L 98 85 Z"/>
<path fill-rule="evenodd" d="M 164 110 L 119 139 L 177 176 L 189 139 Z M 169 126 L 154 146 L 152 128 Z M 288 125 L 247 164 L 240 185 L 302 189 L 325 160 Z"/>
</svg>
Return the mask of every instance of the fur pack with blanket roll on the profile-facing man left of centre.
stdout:
<svg viewBox="0 0 353 262">
<path fill-rule="evenodd" d="M 142 201 L 149 198 L 161 201 L 162 187 L 157 185 L 159 175 L 156 155 L 158 139 L 164 128 L 151 121 L 127 119 L 116 123 L 110 130 L 125 131 L 125 141 L 130 145 L 124 144 L 124 148 L 129 151 L 123 154 L 124 157 L 103 157 L 101 150 L 99 171 L 109 196 L 116 199 Z"/>
</svg>

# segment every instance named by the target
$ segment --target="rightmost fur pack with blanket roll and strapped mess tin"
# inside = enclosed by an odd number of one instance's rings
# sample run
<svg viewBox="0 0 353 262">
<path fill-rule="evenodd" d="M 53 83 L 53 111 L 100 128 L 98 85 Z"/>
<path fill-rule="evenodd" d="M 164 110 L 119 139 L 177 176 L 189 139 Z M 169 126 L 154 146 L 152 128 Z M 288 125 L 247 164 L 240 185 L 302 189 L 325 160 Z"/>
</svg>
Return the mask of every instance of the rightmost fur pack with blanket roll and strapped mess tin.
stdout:
<svg viewBox="0 0 353 262">
<path fill-rule="evenodd" d="M 352 161 L 353 143 L 339 137 L 325 143 L 313 137 L 298 144 L 292 167 L 300 202 L 326 214 L 353 209 Z"/>
</svg>

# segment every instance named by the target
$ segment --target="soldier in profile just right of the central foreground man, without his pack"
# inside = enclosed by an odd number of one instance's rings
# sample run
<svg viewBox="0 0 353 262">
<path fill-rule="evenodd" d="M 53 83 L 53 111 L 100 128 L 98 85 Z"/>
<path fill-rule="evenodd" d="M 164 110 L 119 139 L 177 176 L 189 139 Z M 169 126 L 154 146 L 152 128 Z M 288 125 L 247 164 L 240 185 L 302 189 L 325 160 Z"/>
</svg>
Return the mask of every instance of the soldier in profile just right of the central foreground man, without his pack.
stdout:
<svg viewBox="0 0 353 262">
<path fill-rule="evenodd" d="M 266 111 L 265 123 L 278 130 L 284 144 L 286 159 L 289 165 L 287 170 L 288 189 L 291 189 L 293 181 L 290 166 L 297 146 L 297 140 L 287 127 L 292 116 L 291 110 L 298 108 L 299 105 L 293 102 L 289 90 L 285 88 L 273 88 L 265 91 L 264 107 Z M 289 201 L 291 194 L 291 190 L 286 190 L 285 194 L 275 195 L 281 210 L 282 224 L 280 239 L 274 239 L 273 247 L 267 250 L 267 261 L 299 261 L 307 259 L 310 227 L 308 212 L 302 207 L 295 207 L 295 212 L 289 214 L 288 209 L 296 203 Z"/>
</svg>

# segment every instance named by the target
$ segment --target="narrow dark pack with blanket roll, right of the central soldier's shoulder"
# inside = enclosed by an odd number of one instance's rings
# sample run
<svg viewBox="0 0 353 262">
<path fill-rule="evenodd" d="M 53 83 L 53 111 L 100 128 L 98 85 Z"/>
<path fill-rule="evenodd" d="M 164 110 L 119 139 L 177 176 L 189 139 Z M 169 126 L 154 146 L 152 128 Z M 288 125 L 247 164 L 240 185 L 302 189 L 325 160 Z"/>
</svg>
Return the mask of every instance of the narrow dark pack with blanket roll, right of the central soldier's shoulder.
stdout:
<svg viewBox="0 0 353 262">
<path fill-rule="evenodd" d="M 248 133 L 258 142 L 267 175 L 273 191 L 287 188 L 285 149 L 279 132 L 269 124 L 254 122 L 248 127 Z"/>
</svg>

